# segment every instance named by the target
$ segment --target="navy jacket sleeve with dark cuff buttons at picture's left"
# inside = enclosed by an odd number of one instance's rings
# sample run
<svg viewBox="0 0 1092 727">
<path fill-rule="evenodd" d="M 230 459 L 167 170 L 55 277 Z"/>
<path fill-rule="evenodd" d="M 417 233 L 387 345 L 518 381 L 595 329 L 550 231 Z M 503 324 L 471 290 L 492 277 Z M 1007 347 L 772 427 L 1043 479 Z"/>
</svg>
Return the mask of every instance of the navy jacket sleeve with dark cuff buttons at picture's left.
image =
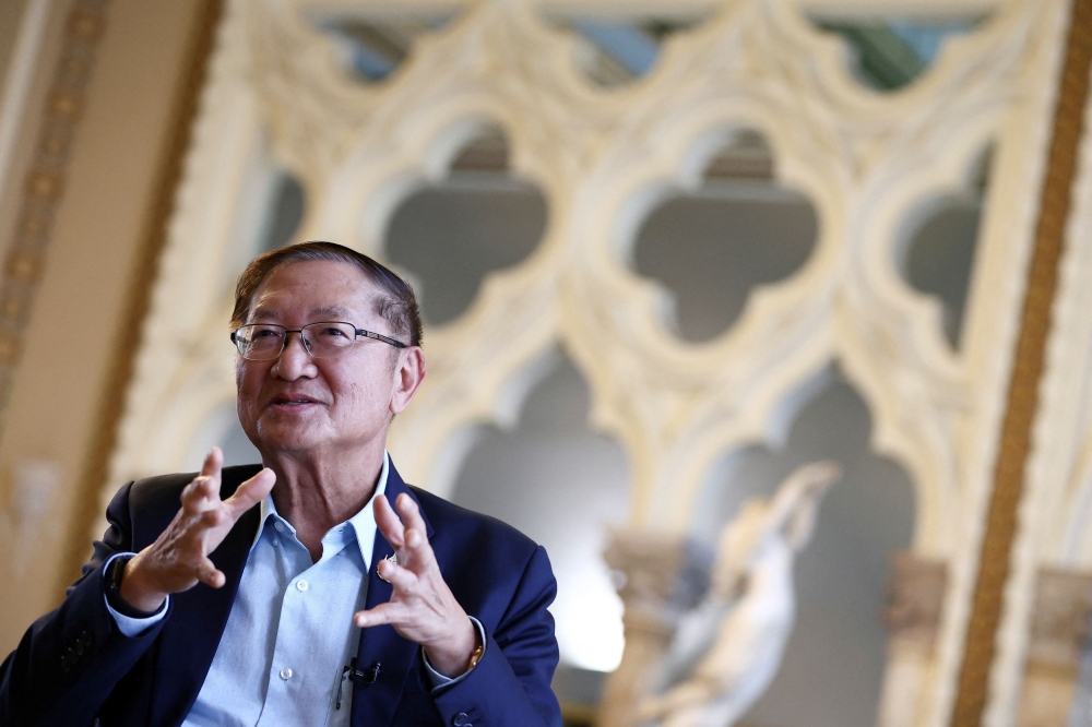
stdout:
<svg viewBox="0 0 1092 727">
<path fill-rule="evenodd" d="M 131 487 L 122 487 L 107 508 L 109 528 L 64 601 L 35 621 L 0 666 L 0 724 L 92 725 L 163 628 L 161 620 L 138 636 L 123 635 L 103 597 L 103 564 L 132 547 Z"/>
</svg>

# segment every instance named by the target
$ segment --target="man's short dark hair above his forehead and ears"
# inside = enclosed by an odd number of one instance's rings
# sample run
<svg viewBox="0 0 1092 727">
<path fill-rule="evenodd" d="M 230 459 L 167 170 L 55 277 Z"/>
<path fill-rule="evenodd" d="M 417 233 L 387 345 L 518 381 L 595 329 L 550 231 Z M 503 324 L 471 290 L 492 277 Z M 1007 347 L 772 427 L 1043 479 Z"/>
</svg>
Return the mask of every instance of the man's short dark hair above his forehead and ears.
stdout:
<svg viewBox="0 0 1092 727">
<path fill-rule="evenodd" d="M 410 338 L 411 346 L 419 346 L 422 339 L 420 308 L 413 287 L 397 273 L 382 265 L 363 252 L 336 242 L 299 242 L 263 253 L 250 261 L 235 286 L 235 310 L 232 311 L 232 329 L 247 322 L 250 303 L 262 282 L 277 267 L 294 262 L 329 260 L 357 266 L 365 276 L 385 294 L 376 296 L 376 313 L 391 324 L 395 337 Z M 355 323 L 355 321 L 353 321 Z"/>
</svg>

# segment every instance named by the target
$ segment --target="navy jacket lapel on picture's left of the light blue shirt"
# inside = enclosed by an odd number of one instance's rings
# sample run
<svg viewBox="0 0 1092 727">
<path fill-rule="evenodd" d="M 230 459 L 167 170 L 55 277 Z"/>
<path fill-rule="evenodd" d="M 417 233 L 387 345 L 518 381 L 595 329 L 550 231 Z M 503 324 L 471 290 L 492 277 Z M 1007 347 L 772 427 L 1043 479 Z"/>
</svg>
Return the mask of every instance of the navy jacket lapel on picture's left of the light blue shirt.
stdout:
<svg viewBox="0 0 1092 727">
<path fill-rule="evenodd" d="M 225 481 L 222 497 L 227 497 L 258 468 L 242 469 L 238 478 Z M 233 473 L 234 474 L 234 473 Z M 260 508 L 248 510 L 210 556 L 226 576 L 221 588 L 199 583 L 189 591 L 173 595 L 171 613 L 159 634 L 155 665 L 155 695 L 150 724 L 177 725 L 186 718 L 197 700 L 219 645 L 227 617 L 242 579 L 242 569 L 258 532 Z"/>
</svg>

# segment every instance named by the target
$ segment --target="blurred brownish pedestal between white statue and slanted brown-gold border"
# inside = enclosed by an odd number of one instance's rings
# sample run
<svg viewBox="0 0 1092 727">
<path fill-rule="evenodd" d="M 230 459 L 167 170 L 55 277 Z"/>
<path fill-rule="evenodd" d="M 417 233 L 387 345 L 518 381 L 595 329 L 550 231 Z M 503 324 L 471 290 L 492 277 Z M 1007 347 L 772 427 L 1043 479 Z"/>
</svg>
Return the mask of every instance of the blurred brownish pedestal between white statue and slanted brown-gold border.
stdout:
<svg viewBox="0 0 1092 727">
<path fill-rule="evenodd" d="M 928 694 L 948 569 L 911 552 L 894 553 L 891 567 L 885 612 L 891 635 L 877 724 L 910 727 Z"/>
</svg>

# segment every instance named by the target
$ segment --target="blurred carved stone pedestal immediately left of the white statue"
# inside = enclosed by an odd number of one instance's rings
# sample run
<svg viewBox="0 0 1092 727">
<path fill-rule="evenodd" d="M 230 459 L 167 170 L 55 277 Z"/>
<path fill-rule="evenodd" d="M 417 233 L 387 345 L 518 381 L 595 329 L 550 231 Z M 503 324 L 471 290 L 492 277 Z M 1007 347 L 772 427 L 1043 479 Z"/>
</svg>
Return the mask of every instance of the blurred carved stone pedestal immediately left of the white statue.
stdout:
<svg viewBox="0 0 1092 727">
<path fill-rule="evenodd" d="M 596 724 L 632 727 L 637 704 L 658 687 L 679 618 L 704 592 L 708 558 L 684 538 L 646 531 L 614 533 L 603 556 L 626 607 L 626 648 L 604 686 Z"/>
</svg>

